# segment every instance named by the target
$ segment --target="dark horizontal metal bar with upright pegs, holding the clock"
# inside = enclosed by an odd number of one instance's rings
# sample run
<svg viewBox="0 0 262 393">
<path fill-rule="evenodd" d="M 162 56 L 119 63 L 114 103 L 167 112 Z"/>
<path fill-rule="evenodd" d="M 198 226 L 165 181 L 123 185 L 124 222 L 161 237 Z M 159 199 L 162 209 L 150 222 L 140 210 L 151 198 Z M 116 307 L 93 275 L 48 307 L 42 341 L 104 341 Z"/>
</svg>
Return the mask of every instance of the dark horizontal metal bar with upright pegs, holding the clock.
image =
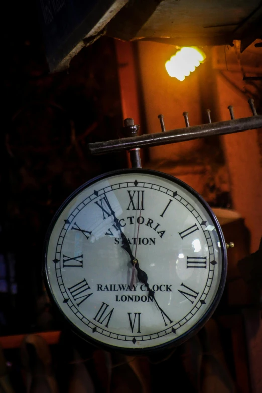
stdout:
<svg viewBox="0 0 262 393">
<path fill-rule="evenodd" d="M 141 148 L 143 146 L 167 145 L 212 135 L 232 134 L 248 129 L 262 128 L 262 116 L 245 117 L 237 120 L 219 121 L 195 125 L 193 127 L 172 129 L 161 133 L 143 134 L 136 137 L 113 139 L 107 142 L 95 142 L 88 145 L 91 154 L 105 154 Z"/>
</svg>

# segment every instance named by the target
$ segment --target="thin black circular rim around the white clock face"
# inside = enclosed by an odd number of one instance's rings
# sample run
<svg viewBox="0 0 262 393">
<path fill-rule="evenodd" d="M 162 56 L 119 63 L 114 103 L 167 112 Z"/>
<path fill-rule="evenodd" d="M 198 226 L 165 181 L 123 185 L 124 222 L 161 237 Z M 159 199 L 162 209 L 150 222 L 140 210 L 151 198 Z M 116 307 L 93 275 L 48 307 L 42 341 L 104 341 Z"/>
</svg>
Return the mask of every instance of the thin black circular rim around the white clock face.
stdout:
<svg viewBox="0 0 262 393">
<path fill-rule="evenodd" d="M 47 250 L 48 250 L 49 238 L 50 238 L 52 230 L 53 230 L 53 228 L 54 228 L 54 226 L 60 216 L 60 213 L 64 210 L 64 208 L 68 205 L 68 203 L 70 203 L 71 200 L 74 199 L 85 188 L 91 186 L 92 184 L 94 184 L 102 179 L 106 179 L 108 177 L 115 176 L 115 175 L 130 174 L 130 173 L 134 173 L 134 174 L 144 173 L 144 174 L 150 174 L 153 176 L 155 175 L 158 177 L 168 179 L 175 184 L 179 184 L 180 186 L 185 188 L 189 193 L 191 193 L 196 199 L 198 199 L 198 201 L 202 204 L 202 206 L 208 212 L 208 214 L 210 215 L 210 217 L 212 218 L 212 220 L 215 224 L 215 228 L 218 233 L 218 237 L 219 237 L 220 244 L 221 244 L 221 252 L 222 252 L 222 270 L 221 270 L 221 279 L 220 279 L 219 287 L 218 287 L 217 293 L 215 295 L 215 298 L 214 298 L 212 304 L 210 305 L 208 310 L 205 312 L 205 314 L 199 319 L 199 321 L 192 328 L 190 328 L 186 333 L 182 334 L 181 336 L 179 336 L 177 338 L 174 338 L 173 340 L 168 341 L 167 343 L 155 345 L 153 347 L 148 347 L 148 348 L 136 348 L 136 349 L 135 348 L 128 349 L 128 348 L 123 348 L 123 347 L 118 347 L 118 346 L 103 343 L 95 338 L 92 338 L 88 334 L 85 334 L 81 329 L 79 329 L 77 326 L 75 326 L 73 324 L 73 322 L 71 322 L 71 320 L 63 313 L 55 296 L 53 295 L 52 288 L 51 288 L 51 285 L 50 285 L 50 282 L 48 279 L 48 272 L 47 272 Z M 223 294 L 224 287 L 225 287 L 226 273 L 227 273 L 227 252 L 226 252 L 226 244 L 225 244 L 224 236 L 223 236 L 220 224 L 219 224 L 215 214 L 213 213 L 213 211 L 211 210 L 211 208 L 207 204 L 207 202 L 192 187 L 190 187 L 188 184 L 184 183 L 182 180 L 177 179 L 174 176 L 168 175 L 166 173 L 163 173 L 160 171 L 155 171 L 152 169 L 141 169 L 141 168 L 119 169 L 119 170 L 103 173 L 102 175 L 99 175 L 93 179 L 90 179 L 89 181 L 84 183 L 82 186 L 80 186 L 78 189 L 76 189 L 63 202 L 63 204 L 60 206 L 60 208 L 55 213 L 55 215 L 49 225 L 49 228 L 47 230 L 47 234 L 46 234 L 46 237 L 44 240 L 44 265 L 43 265 L 44 282 L 45 282 L 45 286 L 46 286 L 49 298 L 50 298 L 52 304 L 55 305 L 55 308 L 59 310 L 59 313 L 62 316 L 63 320 L 67 323 L 67 325 L 70 326 L 71 330 L 75 334 L 77 334 L 79 337 L 81 337 L 82 339 L 84 339 L 88 343 L 90 343 L 96 347 L 102 348 L 104 350 L 107 350 L 107 351 L 114 351 L 114 352 L 117 351 L 117 352 L 127 354 L 127 355 L 133 355 L 133 356 L 134 355 L 150 355 L 150 354 L 156 353 L 157 351 L 163 351 L 167 348 L 178 346 L 178 345 L 182 344 L 184 341 L 188 340 L 193 335 L 195 335 L 204 326 L 204 324 L 208 321 L 208 319 L 212 316 L 215 309 L 217 308 L 218 303 L 219 303 L 221 296 Z"/>
</svg>

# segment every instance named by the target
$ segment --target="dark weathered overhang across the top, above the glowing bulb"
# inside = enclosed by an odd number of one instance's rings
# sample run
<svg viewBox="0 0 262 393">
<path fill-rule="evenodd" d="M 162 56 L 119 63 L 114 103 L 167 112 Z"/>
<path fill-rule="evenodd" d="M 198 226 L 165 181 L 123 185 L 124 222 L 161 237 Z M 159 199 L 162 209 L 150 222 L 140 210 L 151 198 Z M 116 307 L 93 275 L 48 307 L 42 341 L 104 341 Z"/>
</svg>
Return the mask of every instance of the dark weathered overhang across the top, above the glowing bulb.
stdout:
<svg viewBox="0 0 262 393">
<path fill-rule="evenodd" d="M 231 44 L 262 37 L 261 0 L 38 0 L 50 71 L 103 34 L 175 46 Z"/>
</svg>

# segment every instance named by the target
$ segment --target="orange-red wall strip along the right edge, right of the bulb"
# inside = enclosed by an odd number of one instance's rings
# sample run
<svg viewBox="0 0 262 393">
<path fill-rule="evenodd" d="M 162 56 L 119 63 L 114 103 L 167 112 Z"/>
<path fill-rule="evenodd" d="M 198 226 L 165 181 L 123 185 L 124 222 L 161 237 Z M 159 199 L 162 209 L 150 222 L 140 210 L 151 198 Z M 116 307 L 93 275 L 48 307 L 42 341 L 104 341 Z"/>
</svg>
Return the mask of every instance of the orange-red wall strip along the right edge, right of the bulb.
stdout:
<svg viewBox="0 0 262 393">
<path fill-rule="evenodd" d="M 241 72 L 223 73 L 239 88 L 243 87 Z M 252 116 L 248 97 L 233 88 L 219 72 L 216 81 L 220 120 L 228 120 L 228 105 L 234 106 L 235 118 Z M 258 249 L 262 236 L 262 168 L 258 132 L 262 131 L 250 130 L 221 137 L 231 179 L 234 209 L 245 219 L 250 231 L 251 252 Z"/>
</svg>

